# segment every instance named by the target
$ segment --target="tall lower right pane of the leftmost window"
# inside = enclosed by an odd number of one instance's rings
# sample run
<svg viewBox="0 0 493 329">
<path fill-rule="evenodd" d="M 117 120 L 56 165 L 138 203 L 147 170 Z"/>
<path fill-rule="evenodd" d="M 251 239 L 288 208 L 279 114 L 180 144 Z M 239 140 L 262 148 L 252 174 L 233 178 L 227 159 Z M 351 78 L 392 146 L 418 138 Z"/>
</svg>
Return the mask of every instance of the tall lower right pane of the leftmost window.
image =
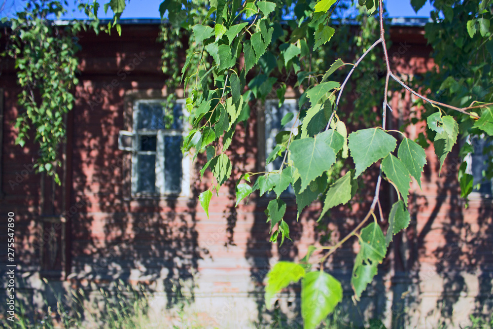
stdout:
<svg viewBox="0 0 493 329">
<path fill-rule="evenodd" d="M 166 192 L 181 192 L 181 136 L 164 137 L 164 186 Z"/>
</svg>

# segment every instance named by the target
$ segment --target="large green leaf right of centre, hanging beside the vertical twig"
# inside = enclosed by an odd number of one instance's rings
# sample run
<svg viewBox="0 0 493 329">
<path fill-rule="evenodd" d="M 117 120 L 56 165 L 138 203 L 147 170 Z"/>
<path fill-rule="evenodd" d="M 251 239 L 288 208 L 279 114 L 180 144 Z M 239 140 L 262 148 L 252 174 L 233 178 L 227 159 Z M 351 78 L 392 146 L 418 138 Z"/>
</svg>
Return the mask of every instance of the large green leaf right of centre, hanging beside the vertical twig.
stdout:
<svg viewBox="0 0 493 329">
<path fill-rule="evenodd" d="M 356 165 L 355 178 L 373 163 L 387 156 L 397 145 L 397 140 L 382 129 L 369 128 L 349 135 L 349 149 Z"/>
</svg>

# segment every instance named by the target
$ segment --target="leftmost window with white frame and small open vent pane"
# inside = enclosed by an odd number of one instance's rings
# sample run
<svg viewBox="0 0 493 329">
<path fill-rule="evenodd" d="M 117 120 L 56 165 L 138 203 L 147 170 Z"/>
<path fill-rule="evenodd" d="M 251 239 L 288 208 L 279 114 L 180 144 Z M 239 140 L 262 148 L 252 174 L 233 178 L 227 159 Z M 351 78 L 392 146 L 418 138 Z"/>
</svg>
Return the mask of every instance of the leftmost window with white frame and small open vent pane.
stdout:
<svg viewBox="0 0 493 329">
<path fill-rule="evenodd" d="M 132 195 L 187 194 L 188 161 L 181 153 L 183 100 L 137 100 L 133 131 L 120 131 L 120 149 L 132 152 Z"/>
</svg>

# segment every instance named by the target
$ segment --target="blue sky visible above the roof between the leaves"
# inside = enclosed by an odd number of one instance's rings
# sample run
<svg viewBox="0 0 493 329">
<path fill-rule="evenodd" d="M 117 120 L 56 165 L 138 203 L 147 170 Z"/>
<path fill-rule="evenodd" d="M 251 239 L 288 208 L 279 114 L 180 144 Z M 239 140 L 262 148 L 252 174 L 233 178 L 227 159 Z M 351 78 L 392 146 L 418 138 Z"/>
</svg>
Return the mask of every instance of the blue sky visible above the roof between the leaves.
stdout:
<svg viewBox="0 0 493 329">
<path fill-rule="evenodd" d="M 0 0 L 0 4 L 2 2 L 3 1 Z M 5 8 L 1 12 L 1 16 L 12 16 L 18 9 L 24 6 L 25 2 L 25 0 L 6 0 Z M 69 2 L 73 3 L 73 1 L 70 0 Z M 105 2 L 106 0 L 100 1 L 100 3 Z M 131 0 L 121 18 L 159 18 L 158 8 L 161 2 L 162 0 Z M 429 12 L 431 10 L 429 2 L 426 2 L 426 5 L 418 12 L 418 14 L 411 8 L 409 0 L 388 0 L 385 2 L 387 2 L 386 6 L 390 17 L 429 17 Z M 75 8 L 75 5 L 72 5 L 71 8 Z M 106 16 L 102 8 L 100 8 L 98 15 L 100 18 L 111 18 L 109 10 L 108 15 Z M 86 17 L 83 13 L 76 11 L 73 13 L 69 12 L 69 14 L 66 15 L 66 18 Z"/>
</svg>

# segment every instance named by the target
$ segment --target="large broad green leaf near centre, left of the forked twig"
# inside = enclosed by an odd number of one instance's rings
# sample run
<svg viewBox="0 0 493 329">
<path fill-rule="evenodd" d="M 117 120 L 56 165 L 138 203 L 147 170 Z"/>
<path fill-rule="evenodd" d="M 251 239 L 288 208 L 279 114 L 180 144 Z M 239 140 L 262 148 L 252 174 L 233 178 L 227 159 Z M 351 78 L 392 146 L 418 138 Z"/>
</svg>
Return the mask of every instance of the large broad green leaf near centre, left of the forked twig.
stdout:
<svg viewBox="0 0 493 329">
<path fill-rule="evenodd" d="M 301 191 L 336 161 L 334 149 L 323 138 L 309 137 L 293 141 L 289 151 L 293 166 L 301 178 Z"/>
</svg>

